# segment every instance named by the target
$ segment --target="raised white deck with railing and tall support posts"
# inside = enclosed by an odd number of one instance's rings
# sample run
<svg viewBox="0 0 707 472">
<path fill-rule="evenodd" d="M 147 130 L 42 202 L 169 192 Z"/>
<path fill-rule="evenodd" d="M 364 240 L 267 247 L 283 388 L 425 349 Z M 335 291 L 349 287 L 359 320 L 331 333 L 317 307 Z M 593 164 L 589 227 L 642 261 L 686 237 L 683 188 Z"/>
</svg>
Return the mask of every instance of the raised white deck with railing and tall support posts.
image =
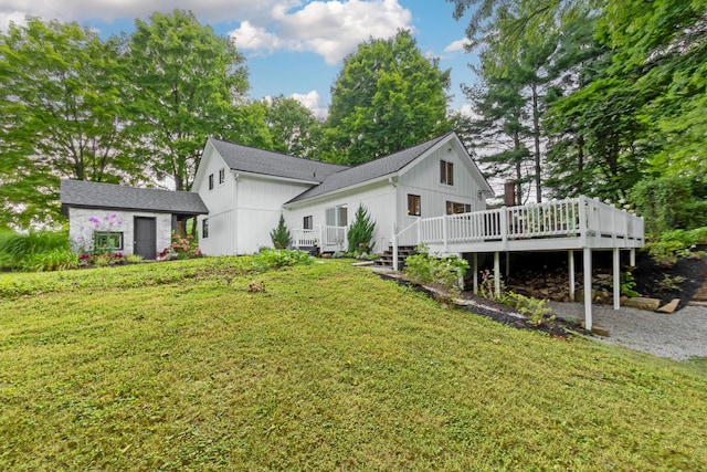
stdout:
<svg viewBox="0 0 707 472">
<path fill-rule="evenodd" d="M 584 319 L 591 329 L 592 250 L 613 251 L 613 280 L 620 280 L 620 250 L 631 251 L 644 244 L 643 218 L 605 204 L 598 199 L 574 199 L 503 207 L 471 213 L 418 219 L 397 231 L 393 228 L 393 266 L 398 266 L 399 245 L 425 244 L 431 253 L 472 254 L 474 291 L 478 280 L 478 253 L 494 254 L 496 294 L 500 294 L 500 252 L 568 251 L 569 294 L 574 296 L 573 251 L 583 253 Z M 614 308 L 619 310 L 620 284 L 613 284 Z"/>
</svg>

